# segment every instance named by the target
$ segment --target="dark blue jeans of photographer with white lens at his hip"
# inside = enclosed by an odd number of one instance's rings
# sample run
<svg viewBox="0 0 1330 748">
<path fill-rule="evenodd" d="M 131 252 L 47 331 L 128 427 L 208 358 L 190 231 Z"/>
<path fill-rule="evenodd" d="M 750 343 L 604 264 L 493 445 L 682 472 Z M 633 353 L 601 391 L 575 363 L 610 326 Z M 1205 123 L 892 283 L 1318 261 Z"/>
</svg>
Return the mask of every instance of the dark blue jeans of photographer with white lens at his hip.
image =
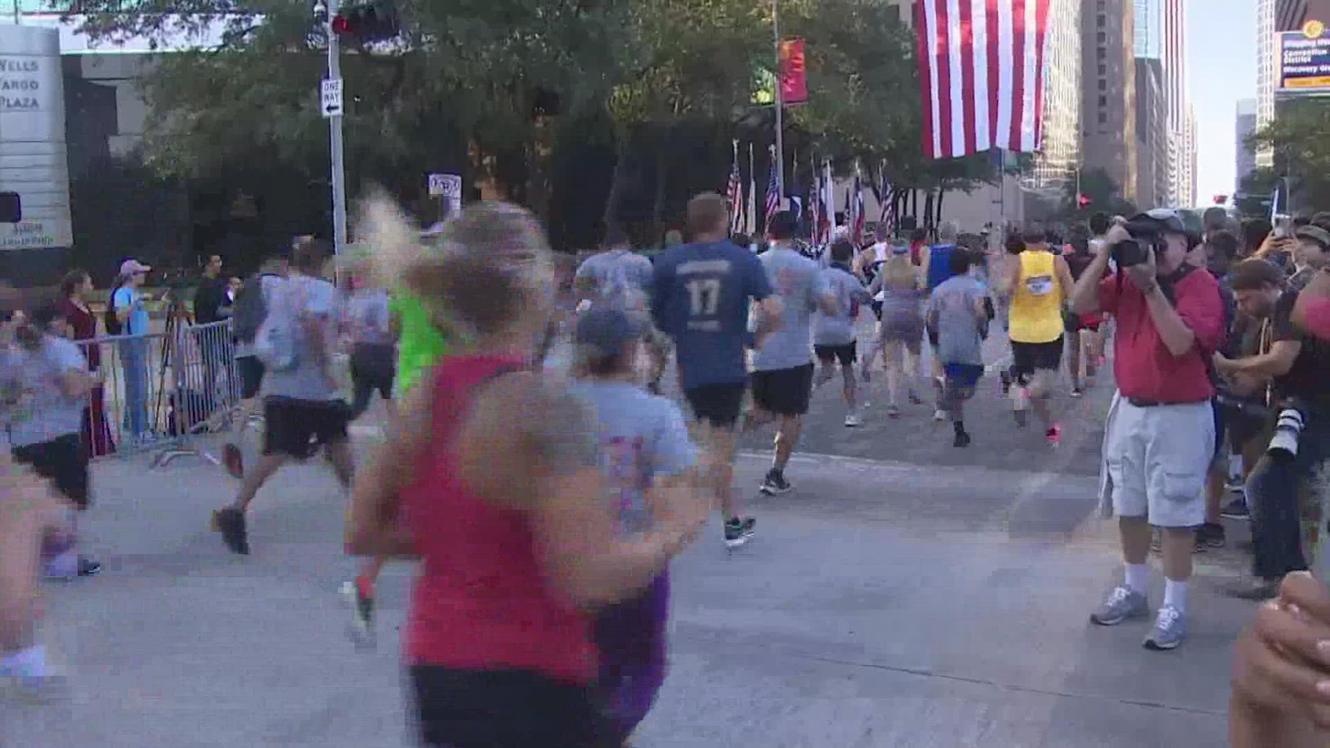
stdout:
<svg viewBox="0 0 1330 748">
<path fill-rule="evenodd" d="M 1302 554 L 1302 514 L 1298 491 L 1311 471 L 1330 457 L 1330 413 L 1309 413 L 1293 459 L 1261 455 L 1246 480 L 1252 507 L 1254 576 L 1282 579 L 1290 571 L 1305 571 Z"/>
</svg>

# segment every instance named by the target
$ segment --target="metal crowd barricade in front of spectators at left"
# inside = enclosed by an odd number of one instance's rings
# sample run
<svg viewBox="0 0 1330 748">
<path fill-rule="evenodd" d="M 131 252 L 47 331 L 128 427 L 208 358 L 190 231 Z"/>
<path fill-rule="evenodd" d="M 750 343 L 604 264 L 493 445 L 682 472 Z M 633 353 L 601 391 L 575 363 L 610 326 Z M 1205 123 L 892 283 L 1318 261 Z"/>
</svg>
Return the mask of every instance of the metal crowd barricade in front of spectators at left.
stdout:
<svg viewBox="0 0 1330 748">
<path fill-rule="evenodd" d="M 152 454 L 152 467 L 177 457 L 219 461 L 200 434 L 226 430 L 241 394 L 229 321 L 168 322 L 162 333 L 78 341 L 101 374 L 84 419 L 92 458 Z"/>
</svg>

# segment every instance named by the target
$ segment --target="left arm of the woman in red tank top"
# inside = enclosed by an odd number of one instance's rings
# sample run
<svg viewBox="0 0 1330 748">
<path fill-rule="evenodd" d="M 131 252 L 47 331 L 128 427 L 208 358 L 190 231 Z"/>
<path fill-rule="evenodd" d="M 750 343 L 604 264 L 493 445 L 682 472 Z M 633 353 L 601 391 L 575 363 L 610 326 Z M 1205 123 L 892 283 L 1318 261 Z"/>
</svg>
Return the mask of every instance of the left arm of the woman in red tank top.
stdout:
<svg viewBox="0 0 1330 748">
<path fill-rule="evenodd" d="M 351 488 L 346 550 L 358 556 L 410 556 L 414 540 L 402 522 L 400 496 L 430 443 L 434 425 L 432 391 L 416 385 L 398 410 L 388 438 L 374 447 Z"/>
</svg>

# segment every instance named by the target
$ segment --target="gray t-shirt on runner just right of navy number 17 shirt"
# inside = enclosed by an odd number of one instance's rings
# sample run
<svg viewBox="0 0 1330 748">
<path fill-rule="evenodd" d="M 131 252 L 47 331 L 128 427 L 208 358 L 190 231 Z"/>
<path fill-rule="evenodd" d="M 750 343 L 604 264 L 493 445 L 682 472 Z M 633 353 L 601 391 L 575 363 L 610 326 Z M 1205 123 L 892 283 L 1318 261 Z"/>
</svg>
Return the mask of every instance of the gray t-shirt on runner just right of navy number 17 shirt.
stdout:
<svg viewBox="0 0 1330 748">
<path fill-rule="evenodd" d="M 811 323 L 818 298 L 829 291 L 818 264 L 798 252 L 775 248 L 761 256 L 775 297 L 785 305 L 781 326 L 758 351 L 753 367 L 777 371 L 813 363 Z"/>
</svg>

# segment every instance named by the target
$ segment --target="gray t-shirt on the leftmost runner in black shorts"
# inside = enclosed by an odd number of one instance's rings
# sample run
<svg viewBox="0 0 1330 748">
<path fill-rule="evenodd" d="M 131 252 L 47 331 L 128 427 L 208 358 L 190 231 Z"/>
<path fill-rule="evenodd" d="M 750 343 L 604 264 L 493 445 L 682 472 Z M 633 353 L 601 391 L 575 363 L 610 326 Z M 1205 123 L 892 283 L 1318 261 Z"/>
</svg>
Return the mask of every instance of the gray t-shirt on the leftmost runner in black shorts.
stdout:
<svg viewBox="0 0 1330 748">
<path fill-rule="evenodd" d="M 65 397 L 56 381 L 60 374 L 88 371 L 88 359 L 77 345 L 57 335 L 43 335 L 37 350 L 15 346 L 7 351 L 0 371 L 11 445 L 40 445 L 82 431 L 82 409 L 88 398 Z M 8 405 L 11 401 L 16 402 Z"/>
</svg>

